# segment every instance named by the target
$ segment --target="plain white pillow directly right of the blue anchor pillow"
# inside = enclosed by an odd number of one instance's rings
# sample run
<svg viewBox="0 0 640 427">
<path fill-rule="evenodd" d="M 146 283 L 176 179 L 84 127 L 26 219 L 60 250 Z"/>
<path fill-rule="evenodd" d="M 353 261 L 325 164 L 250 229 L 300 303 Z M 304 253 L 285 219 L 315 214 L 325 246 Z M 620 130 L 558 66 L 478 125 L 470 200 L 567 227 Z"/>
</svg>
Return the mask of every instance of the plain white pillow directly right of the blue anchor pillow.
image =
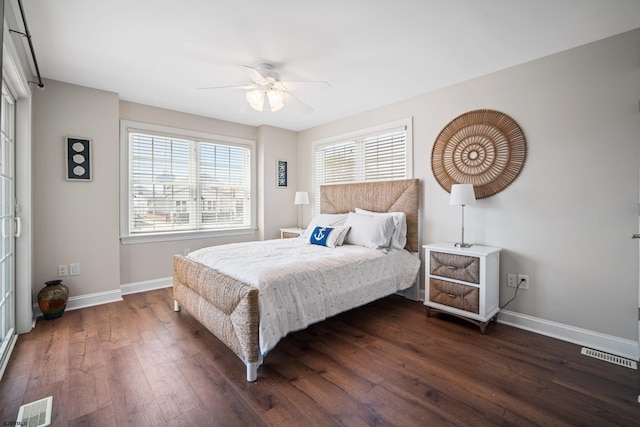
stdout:
<svg viewBox="0 0 640 427">
<path fill-rule="evenodd" d="M 390 215 L 362 215 L 350 212 L 345 227 L 350 227 L 345 243 L 371 249 L 389 249 L 395 229 Z"/>
</svg>

